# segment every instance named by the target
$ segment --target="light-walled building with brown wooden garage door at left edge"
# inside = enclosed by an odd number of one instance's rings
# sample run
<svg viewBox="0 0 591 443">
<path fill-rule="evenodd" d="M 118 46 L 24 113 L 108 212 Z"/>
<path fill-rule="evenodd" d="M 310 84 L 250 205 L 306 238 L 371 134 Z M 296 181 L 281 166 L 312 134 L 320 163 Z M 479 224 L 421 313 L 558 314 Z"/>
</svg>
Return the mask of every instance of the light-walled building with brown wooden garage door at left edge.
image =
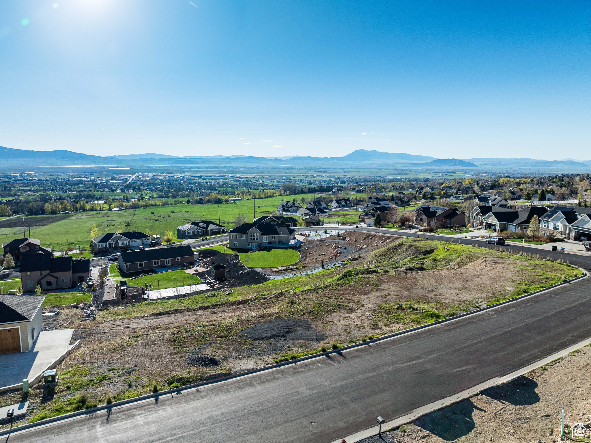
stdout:
<svg viewBox="0 0 591 443">
<path fill-rule="evenodd" d="M 0 354 L 27 353 L 43 329 L 44 295 L 0 295 Z"/>
</svg>

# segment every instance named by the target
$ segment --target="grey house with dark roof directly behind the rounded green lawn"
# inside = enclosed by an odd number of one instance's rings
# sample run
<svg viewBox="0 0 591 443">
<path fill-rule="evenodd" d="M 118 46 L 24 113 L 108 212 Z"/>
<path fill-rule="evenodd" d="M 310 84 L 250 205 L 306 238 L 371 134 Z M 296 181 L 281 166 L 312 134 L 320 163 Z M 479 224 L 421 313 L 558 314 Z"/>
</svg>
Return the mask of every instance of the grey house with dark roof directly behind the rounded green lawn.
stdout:
<svg viewBox="0 0 591 443">
<path fill-rule="evenodd" d="M 289 247 L 296 230 L 273 223 L 244 223 L 228 232 L 230 248 Z"/>
</svg>

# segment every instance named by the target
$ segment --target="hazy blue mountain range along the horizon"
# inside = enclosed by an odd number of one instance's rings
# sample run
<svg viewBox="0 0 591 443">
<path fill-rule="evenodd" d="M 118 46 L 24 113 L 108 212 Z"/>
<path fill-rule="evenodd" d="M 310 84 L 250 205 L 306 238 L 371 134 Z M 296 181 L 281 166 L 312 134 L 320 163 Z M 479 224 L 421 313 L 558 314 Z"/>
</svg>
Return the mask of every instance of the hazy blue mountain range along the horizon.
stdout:
<svg viewBox="0 0 591 443">
<path fill-rule="evenodd" d="M 0 169 L 40 166 L 265 166 L 307 167 L 363 167 L 372 169 L 385 166 L 412 170 L 452 169 L 466 172 L 591 172 L 591 160 L 538 160 L 479 157 L 474 159 L 436 159 L 407 153 L 385 153 L 359 149 L 342 157 L 254 157 L 254 156 L 171 156 L 167 154 L 122 154 L 117 156 L 90 156 L 67 150 L 31 151 L 0 147 Z"/>
</svg>

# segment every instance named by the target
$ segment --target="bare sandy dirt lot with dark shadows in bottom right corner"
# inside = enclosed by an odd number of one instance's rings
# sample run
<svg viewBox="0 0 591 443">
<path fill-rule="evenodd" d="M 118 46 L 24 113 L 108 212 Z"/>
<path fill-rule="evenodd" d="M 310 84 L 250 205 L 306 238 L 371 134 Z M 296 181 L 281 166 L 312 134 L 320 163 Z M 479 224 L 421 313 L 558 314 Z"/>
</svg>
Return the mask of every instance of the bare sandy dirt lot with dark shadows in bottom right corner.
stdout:
<svg viewBox="0 0 591 443">
<path fill-rule="evenodd" d="M 559 441 L 561 410 L 569 426 L 591 423 L 590 361 L 591 348 L 584 347 L 525 376 L 385 432 L 383 439 L 375 436 L 362 442 Z"/>
</svg>

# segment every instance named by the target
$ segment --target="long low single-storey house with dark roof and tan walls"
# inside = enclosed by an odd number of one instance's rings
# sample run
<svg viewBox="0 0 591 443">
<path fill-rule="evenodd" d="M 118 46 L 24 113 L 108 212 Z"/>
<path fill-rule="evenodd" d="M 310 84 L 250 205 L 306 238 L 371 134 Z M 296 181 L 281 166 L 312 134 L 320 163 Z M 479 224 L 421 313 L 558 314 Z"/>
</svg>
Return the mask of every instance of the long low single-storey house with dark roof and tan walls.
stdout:
<svg viewBox="0 0 591 443">
<path fill-rule="evenodd" d="M 119 255 L 119 269 L 125 273 L 194 263 L 195 254 L 189 245 L 125 251 Z"/>
</svg>

